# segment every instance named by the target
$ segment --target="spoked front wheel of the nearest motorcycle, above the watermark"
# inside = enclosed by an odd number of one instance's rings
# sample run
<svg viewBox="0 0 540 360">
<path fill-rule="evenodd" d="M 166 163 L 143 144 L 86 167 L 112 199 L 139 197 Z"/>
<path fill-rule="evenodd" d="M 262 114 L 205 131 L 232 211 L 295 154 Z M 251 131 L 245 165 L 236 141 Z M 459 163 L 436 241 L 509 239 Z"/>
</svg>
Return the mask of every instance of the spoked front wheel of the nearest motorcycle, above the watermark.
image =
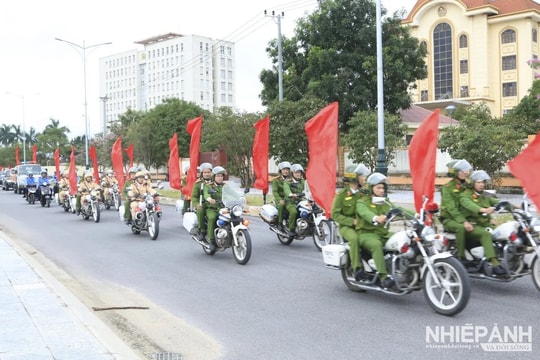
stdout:
<svg viewBox="0 0 540 360">
<path fill-rule="evenodd" d="M 471 296 L 471 282 L 467 271 L 456 258 L 435 260 L 435 276 L 439 287 L 428 268 L 424 271 L 424 297 L 435 312 L 453 316 L 459 314 Z"/>
</svg>

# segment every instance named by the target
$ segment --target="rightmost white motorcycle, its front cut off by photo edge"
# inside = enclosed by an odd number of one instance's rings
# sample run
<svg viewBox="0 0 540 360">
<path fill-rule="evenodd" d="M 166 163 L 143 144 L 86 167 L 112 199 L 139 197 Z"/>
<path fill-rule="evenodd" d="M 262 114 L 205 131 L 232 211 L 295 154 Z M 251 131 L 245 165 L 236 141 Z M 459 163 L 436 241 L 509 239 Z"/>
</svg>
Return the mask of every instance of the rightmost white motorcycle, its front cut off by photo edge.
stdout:
<svg viewBox="0 0 540 360">
<path fill-rule="evenodd" d="M 511 214 L 512 220 L 502 223 L 491 233 L 495 254 L 504 275 L 495 275 L 491 263 L 484 257 L 484 248 L 479 243 L 467 242 L 465 268 L 471 278 L 510 282 L 532 275 L 534 285 L 540 290 L 540 219 L 533 215 L 524 199 L 521 209 L 514 209 L 507 201 L 495 205 L 497 214 Z M 456 255 L 455 235 L 446 234 L 446 250 Z"/>
</svg>

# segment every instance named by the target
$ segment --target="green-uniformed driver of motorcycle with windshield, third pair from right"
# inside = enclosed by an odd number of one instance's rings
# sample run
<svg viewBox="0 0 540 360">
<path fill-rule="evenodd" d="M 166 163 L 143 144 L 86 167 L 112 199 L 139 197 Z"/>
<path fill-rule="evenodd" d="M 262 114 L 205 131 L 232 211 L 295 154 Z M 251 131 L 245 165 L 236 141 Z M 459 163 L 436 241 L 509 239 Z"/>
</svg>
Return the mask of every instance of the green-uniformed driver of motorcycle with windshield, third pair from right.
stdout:
<svg viewBox="0 0 540 360">
<path fill-rule="evenodd" d="M 223 194 L 223 185 L 225 185 L 225 174 L 227 171 L 222 166 L 216 166 L 212 169 L 212 182 L 204 184 L 203 197 L 206 202 L 206 226 L 208 232 L 208 244 L 210 251 L 216 250 L 216 239 L 214 229 L 221 206 L 221 196 Z"/>
</svg>

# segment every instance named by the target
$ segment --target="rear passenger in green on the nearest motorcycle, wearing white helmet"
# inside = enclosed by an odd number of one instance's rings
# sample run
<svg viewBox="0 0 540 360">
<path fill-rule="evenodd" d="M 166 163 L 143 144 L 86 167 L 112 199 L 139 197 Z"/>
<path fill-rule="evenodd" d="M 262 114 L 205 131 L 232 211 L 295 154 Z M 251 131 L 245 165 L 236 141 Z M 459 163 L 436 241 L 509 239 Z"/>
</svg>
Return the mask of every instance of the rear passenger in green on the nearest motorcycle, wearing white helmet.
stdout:
<svg viewBox="0 0 540 360">
<path fill-rule="evenodd" d="M 356 231 L 358 225 L 356 202 L 367 195 L 363 185 L 369 173 L 364 164 L 347 166 L 343 174 L 345 186 L 336 194 L 332 203 L 332 219 L 338 223 L 341 237 L 349 243 L 351 267 L 357 281 L 362 278 L 363 272 L 359 257 L 360 242 Z"/>
</svg>

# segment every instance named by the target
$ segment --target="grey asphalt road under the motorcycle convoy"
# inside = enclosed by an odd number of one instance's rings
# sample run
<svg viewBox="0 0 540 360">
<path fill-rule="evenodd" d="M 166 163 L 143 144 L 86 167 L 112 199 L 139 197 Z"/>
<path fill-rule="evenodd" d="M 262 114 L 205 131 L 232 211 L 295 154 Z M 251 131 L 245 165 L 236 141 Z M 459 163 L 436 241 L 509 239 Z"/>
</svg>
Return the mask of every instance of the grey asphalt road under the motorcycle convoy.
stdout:
<svg viewBox="0 0 540 360">
<path fill-rule="evenodd" d="M 529 277 L 473 280 L 467 308 L 444 317 L 421 292 L 347 290 L 339 272 L 324 268 L 311 239 L 283 246 L 257 218 L 250 225 L 253 254 L 241 266 L 230 250 L 205 255 L 172 206 L 164 206 L 152 241 L 131 234 L 111 210 L 96 224 L 55 205 L 28 205 L 12 192 L 0 192 L 0 204 L 3 231 L 87 306 L 148 307 L 96 312 L 141 358 L 165 351 L 186 359 L 538 358 L 540 293 Z M 532 351 L 428 347 L 428 330 L 465 326 L 530 326 Z"/>
</svg>

